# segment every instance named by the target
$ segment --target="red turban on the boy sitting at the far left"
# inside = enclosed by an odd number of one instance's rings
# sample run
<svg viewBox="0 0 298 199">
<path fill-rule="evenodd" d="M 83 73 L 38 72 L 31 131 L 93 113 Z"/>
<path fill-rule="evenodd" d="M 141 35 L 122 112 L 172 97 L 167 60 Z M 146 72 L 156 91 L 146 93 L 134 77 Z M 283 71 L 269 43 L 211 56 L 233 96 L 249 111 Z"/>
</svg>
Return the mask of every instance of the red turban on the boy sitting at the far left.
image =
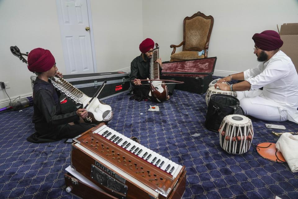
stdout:
<svg viewBox="0 0 298 199">
<path fill-rule="evenodd" d="M 31 72 L 46 72 L 55 64 L 55 58 L 49 50 L 33 49 L 28 54 L 28 69 Z"/>
</svg>

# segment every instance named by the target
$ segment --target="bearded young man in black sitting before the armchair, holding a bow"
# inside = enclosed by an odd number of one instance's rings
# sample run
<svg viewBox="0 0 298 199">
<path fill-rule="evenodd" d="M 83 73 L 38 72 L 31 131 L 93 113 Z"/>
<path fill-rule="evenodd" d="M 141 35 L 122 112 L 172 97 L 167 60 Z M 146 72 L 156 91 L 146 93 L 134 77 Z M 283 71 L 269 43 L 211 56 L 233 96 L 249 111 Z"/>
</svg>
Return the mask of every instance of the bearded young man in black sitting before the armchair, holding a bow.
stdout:
<svg viewBox="0 0 298 199">
<path fill-rule="evenodd" d="M 133 95 L 130 99 L 137 101 L 149 99 L 150 86 L 147 81 L 141 82 L 141 79 L 149 78 L 150 70 L 150 59 L 152 57 L 152 51 L 154 48 L 154 41 L 150 38 L 145 39 L 139 46 L 141 55 L 134 58 L 130 64 L 130 80 L 133 88 Z M 162 70 L 161 58 L 156 60 L 159 63 L 160 69 Z M 160 71 L 161 71 L 160 70 Z M 143 85 L 146 84 L 146 85 Z M 169 95 L 173 94 L 175 84 L 169 84 L 168 86 Z M 168 99 L 170 96 L 168 96 Z"/>
</svg>

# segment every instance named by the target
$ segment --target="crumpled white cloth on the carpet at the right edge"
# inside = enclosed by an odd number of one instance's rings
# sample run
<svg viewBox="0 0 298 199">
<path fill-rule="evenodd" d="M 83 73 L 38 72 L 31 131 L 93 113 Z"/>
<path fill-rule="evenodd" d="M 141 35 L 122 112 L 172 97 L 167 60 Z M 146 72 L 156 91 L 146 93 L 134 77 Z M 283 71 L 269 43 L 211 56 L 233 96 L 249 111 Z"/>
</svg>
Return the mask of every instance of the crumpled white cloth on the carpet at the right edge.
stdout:
<svg viewBox="0 0 298 199">
<path fill-rule="evenodd" d="M 298 172 L 298 135 L 283 133 L 275 146 L 282 153 L 291 171 Z"/>
</svg>

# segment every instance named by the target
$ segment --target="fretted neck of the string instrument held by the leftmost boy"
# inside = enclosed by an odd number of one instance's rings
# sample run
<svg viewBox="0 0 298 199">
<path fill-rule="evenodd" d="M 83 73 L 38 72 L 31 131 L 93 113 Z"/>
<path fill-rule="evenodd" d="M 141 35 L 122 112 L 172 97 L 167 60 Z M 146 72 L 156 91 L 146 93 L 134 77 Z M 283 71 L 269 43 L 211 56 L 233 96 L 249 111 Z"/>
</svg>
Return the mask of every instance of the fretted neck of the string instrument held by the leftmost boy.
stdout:
<svg viewBox="0 0 298 199">
<path fill-rule="evenodd" d="M 53 76 L 50 80 L 52 81 L 53 86 L 60 90 L 61 93 L 65 94 L 76 103 L 83 104 L 81 99 L 84 93 L 82 91 L 58 75 Z"/>
</svg>

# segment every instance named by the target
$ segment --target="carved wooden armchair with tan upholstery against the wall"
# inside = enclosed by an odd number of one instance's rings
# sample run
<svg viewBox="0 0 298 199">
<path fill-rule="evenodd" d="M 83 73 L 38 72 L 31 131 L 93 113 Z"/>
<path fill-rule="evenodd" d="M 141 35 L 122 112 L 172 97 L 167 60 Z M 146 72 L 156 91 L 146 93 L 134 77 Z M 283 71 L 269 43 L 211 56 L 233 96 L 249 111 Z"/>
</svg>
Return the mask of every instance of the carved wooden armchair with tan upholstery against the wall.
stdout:
<svg viewBox="0 0 298 199">
<path fill-rule="evenodd" d="M 174 48 L 170 62 L 207 58 L 213 22 L 214 19 L 211 15 L 205 16 L 201 12 L 197 12 L 191 17 L 185 17 L 183 20 L 183 41 L 179 45 L 170 45 L 170 48 Z M 182 45 L 182 51 L 175 53 L 176 48 Z M 202 50 L 204 50 L 204 54 L 199 56 L 198 52 Z"/>
</svg>

